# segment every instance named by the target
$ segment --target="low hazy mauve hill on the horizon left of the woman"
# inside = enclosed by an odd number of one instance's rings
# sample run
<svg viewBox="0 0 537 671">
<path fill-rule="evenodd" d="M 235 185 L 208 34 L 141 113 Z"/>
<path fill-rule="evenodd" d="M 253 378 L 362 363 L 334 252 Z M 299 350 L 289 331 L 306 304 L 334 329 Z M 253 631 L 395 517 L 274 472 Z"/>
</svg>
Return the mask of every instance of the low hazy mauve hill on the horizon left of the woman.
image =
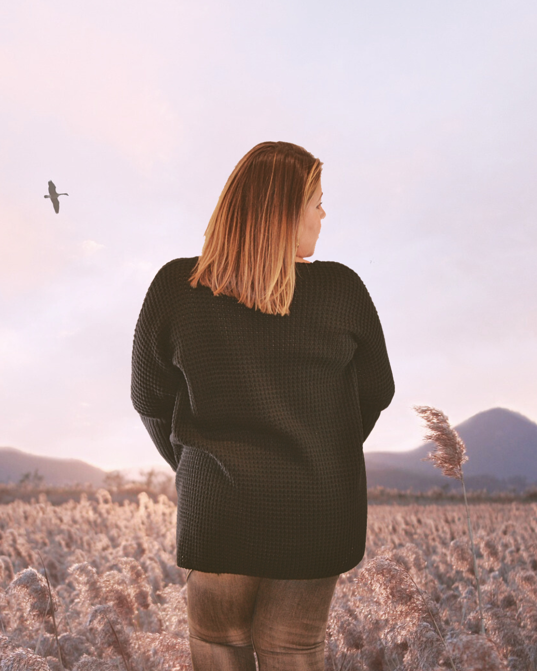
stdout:
<svg viewBox="0 0 537 671">
<path fill-rule="evenodd" d="M 23 474 L 38 471 L 44 483 L 53 486 L 85 484 L 103 486 L 107 472 L 80 459 L 56 459 L 28 454 L 15 448 L 0 448 L 0 482 L 19 482 Z"/>
</svg>

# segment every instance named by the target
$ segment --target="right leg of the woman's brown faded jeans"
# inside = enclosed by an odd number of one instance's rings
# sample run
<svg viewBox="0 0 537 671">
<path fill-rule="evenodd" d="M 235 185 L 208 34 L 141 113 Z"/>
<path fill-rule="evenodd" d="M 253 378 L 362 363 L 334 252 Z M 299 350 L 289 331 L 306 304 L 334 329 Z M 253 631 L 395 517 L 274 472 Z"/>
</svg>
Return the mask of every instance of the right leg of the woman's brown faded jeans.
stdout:
<svg viewBox="0 0 537 671">
<path fill-rule="evenodd" d="M 326 625 L 338 578 L 261 580 L 252 623 L 259 671 L 324 671 Z"/>
</svg>

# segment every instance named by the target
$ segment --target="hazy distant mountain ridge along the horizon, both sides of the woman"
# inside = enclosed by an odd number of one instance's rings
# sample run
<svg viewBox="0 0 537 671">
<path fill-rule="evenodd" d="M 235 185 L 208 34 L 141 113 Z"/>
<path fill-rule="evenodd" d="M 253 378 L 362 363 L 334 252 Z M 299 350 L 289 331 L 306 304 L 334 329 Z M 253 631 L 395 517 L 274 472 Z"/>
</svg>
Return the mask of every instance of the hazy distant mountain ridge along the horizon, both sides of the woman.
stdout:
<svg viewBox="0 0 537 671">
<path fill-rule="evenodd" d="M 467 446 L 469 460 L 462 467 L 467 489 L 522 491 L 526 486 L 537 484 L 536 423 L 512 410 L 492 408 L 473 415 L 455 429 Z M 443 476 L 431 462 L 421 461 L 433 449 L 434 444 L 424 443 L 407 452 L 364 452 L 367 485 L 399 490 L 412 488 L 416 492 L 432 486 L 460 489 L 460 482 Z M 44 482 L 52 486 L 88 482 L 99 487 L 107 476 L 107 471 L 79 459 L 0 448 L 0 482 L 19 482 L 23 474 L 36 470 Z M 128 470 L 125 469 L 126 474 Z M 156 467 L 156 470 L 168 473 L 169 469 L 162 464 L 162 469 Z"/>
</svg>

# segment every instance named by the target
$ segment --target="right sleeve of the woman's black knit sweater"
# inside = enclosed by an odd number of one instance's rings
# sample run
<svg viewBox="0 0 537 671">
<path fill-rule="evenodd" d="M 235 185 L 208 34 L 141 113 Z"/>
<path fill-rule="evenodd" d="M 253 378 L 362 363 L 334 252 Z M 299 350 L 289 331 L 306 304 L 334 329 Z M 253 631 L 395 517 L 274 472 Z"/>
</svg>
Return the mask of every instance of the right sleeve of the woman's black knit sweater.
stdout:
<svg viewBox="0 0 537 671">
<path fill-rule="evenodd" d="M 353 361 L 358 376 L 363 440 L 369 436 L 395 393 L 393 374 L 377 309 L 356 273 Z"/>
</svg>

